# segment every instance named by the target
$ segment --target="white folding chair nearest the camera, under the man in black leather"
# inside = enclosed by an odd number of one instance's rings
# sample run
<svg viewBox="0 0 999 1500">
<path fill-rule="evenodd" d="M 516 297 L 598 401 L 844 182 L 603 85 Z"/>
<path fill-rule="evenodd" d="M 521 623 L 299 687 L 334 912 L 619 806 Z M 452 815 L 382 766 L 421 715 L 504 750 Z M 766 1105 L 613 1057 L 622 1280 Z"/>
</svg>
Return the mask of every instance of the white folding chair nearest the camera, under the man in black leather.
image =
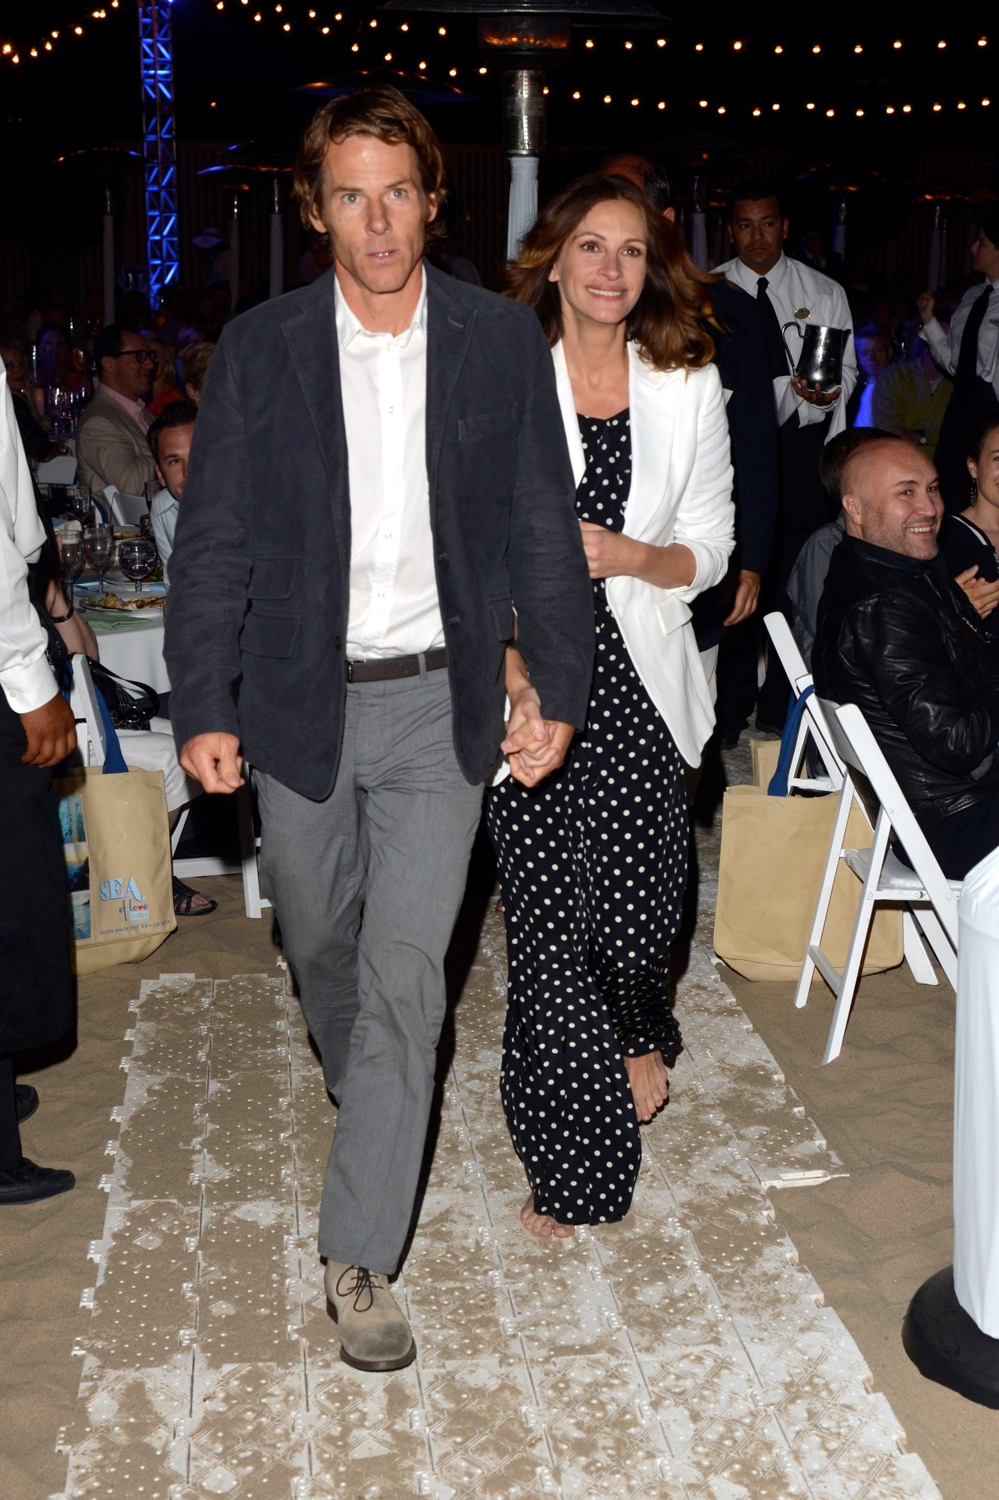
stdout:
<svg viewBox="0 0 999 1500">
<path fill-rule="evenodd" d="M 962 882 L 948 880 L 940 870 L 926 840 L 926 834 L 915 820 L 915 814 L 860 708 L 855 704 L 846 704 L 840 708 L 828 700 L 820 700 L 819 708 L 825 716 L 834 747 L 848 774 L 840 789 L 840 804 L 832 828 L 830 855 L 822 876 L 804 963 L 801 964 L 798 988 L 795 990 L 795 1005 L 800 1010 L 806 1005 L 812 976 L 818 969 L 836 994 L 832 1024 L 822 1059 L 825 1064 L 838 1058 L 843 1047 L 846 1023 L 854 996 L 856 994 L 856 986 L 860 984 L 864 948 L 867 946 L 867 936 L 878 904 L 890 902 L 892 904 L 902 903 L 906 908 L 903 915 L 904 954 L 914 978 L 920 984 L 936 984 L 936 974 L 920 940 L 918 927 L 936 954 L 938 963 L 951 986 L 957 986 L 957 897 L 960 896 Z M 864 807 L 855 784 L 858 777 L 867 782 L 878 804 L 874 837 L 870 849 L 848 849 L 843 843 L 854 801 L 860 807 Z M 867 808 L 864 808 L 864 813 L 867 814 Z M 888 840 L 892 831 L 912 861 L 912 868 L 904 866 L 891 852 Z M 820 946 L 825 918 L 832 897 L 832 882 L 840 860 L 862 882 L 842 975 Z"/>
</svg>

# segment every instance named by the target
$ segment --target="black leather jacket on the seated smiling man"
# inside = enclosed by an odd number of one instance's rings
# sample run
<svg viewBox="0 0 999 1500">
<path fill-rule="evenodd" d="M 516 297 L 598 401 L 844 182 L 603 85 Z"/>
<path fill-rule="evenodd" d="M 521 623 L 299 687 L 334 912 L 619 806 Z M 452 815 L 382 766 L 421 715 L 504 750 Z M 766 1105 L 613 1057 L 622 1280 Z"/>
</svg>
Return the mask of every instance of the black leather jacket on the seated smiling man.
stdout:
<svg viewBox="0 0 999 1500">
<path fill-rule="evenodd" d="M 816 693 L 856 704 L 924 825 L 999 790 L 999 666 L 942 560 L 844 537 L 812 650 Z"/>
</svg>

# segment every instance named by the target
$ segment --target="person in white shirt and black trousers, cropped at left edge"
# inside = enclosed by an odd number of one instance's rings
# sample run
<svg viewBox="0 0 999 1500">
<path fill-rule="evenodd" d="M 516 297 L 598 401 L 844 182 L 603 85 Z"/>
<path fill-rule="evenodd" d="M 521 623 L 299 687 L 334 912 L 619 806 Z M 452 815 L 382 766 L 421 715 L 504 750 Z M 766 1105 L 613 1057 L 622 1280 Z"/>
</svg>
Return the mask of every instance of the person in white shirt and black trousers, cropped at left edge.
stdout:
<svg viewBox="0 0 999 1500">
<path fill-rule="evenodd" d="M 0 388 L 0 1206 L 74 1186 L 72 1172 L 36 1167 L 20 1122 L 38 1107 L 14 1082 L 14 1053 L 58 1041 L 74 1024 L 69 890 L 51 766 L 76 746 L 69 704 L 46 658 L 32 603 L 45 546 L 32 474 L 6 381 Z"/>
</svg>

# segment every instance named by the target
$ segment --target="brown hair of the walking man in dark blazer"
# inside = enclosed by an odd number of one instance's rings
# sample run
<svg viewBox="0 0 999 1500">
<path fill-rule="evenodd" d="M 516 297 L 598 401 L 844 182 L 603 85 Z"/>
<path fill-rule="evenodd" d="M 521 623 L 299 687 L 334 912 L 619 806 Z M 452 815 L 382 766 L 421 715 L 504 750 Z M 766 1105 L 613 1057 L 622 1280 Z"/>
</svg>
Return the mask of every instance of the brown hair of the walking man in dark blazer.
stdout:
<svg viewBox="0 0 999 1500">
<path fill-rule="evenodd" d="M 351 135 L 370 135 L 386 146 L 412 147 L 423 196 L 436 204 L 436 218 L 428 224 L 426 236 L 434 238 L 442 234 L 441 208 L 447 189 L 441 142 L 416 105 L 392 84 L 372 84 L 356 94 L 330 99 L 306 124 L 294 171 L 298 213 L 306 230 L 312 224 L 309 214 L 322 195 L 322 166 L 330 141 L 346 141 Z"/>
</svg>

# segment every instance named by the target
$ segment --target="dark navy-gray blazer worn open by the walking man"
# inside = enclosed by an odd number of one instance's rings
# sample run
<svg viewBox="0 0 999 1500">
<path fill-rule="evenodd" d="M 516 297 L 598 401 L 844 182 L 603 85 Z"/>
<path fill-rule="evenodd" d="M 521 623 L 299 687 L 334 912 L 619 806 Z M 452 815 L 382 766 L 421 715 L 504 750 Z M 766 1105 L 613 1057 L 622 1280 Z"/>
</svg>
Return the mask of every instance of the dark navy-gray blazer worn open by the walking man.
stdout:
<svg viewBox="0 0 999 1500">
<path fill-rule="evenodd" d="M 580 728 L 592 590 L 555 394 L 530 308 L 428 266 L 426 464 L 454 748 L 482 782 L 502 740 L 504 644 L 548 718 Z M 219 342 L 170 560 L 178 746 L 224 730 L 303 796 L 340 754 L 351 502 L 333 273 Z"/>
</svg>

